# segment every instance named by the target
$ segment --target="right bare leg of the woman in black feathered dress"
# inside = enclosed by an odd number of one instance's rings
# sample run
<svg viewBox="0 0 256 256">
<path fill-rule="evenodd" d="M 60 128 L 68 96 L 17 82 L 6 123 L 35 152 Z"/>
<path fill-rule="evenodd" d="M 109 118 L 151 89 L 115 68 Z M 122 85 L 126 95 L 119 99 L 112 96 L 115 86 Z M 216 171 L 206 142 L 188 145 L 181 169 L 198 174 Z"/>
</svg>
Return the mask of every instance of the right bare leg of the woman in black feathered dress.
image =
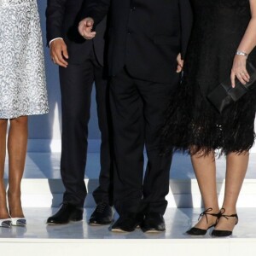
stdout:
<svg viewBox="0 0 256 256">
<path fill-rule="evenodd" d="M 244 152 L 243 154 L 231 153 L 227 155 L 224 203 L 222 206 L 225 209 L 224 214 L 226 215 L 236 213 L 236 202 L 247 172 L 248 161 L 248 152 Z M 236 218 L 219 218 L 215 230 L 232 231 L 236 221 Z"/>
</svg>

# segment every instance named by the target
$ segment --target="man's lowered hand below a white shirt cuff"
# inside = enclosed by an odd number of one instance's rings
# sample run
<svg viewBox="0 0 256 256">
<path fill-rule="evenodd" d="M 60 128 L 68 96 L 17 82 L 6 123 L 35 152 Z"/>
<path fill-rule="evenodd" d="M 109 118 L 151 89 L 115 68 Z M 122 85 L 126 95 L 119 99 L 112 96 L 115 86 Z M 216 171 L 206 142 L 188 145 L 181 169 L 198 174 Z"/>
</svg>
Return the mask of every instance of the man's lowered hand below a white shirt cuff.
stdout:
<svg viewBox="0 0 256 256">
<path fill-rule="evenodd" d="M 61 67 L 67 67 L 68 63 L 64 59 L 68 59 L 67 45 L 63 39 L 56 39 L 49 45 L 49 52 L 52 61 Z M 63 57 L 64 56 L 64 57 Z"/>
</svg>

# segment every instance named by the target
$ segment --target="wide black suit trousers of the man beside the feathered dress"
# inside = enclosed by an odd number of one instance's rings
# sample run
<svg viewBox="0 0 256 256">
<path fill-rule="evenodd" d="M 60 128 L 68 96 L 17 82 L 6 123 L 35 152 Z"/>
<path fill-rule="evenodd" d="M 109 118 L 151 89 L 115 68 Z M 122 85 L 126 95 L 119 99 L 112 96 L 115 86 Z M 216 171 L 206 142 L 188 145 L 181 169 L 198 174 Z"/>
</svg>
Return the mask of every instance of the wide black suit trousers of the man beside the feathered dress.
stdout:
<svg viewBox="0 0 256 256">
<path fill-rule="evenodd" d="M 113 119 L 113 203 L 119 215 L 164 214 L 172 155 L 160 156 L 160 129 L 179 75 L 170 84 L 132 78 L 123 69 L 110 82 Z M 146 149 L 148 164 L 143 175 Z"/>
</svg>

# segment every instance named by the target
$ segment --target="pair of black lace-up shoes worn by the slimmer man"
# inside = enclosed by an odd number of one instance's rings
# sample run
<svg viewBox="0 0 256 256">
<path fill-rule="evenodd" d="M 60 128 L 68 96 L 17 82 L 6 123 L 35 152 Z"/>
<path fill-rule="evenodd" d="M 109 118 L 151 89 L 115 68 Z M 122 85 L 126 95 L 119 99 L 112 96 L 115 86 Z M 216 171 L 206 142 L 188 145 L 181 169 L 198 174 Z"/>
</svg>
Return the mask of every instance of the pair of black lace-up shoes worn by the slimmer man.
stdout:
<svg viewBox="0 0 256 256">
<path fill-rule="evenodd" d="M 80 221 L 83 219 L 83 208 L 64 202 L 58 212 L 47 219 L 47 224 L 67 224 L 70 221 Z M 106 203 L 100 203 L 92 212 L 89 220 L 90 225 L 111 224 L 113 221 L 113 209 Z"/>
</svg>

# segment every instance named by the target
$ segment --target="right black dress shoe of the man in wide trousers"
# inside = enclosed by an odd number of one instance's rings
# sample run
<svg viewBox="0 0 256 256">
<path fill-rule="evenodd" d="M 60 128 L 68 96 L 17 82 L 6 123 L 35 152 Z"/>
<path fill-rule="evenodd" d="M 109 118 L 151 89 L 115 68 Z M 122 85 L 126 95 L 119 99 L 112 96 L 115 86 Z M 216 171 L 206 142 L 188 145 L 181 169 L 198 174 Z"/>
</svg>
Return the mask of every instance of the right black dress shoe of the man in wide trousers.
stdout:
<svg viewBox="0 0 256 256">
<path fill-rule="evenodd" d="M 150 212 L 145 215 L 141 229 L 145 233 L 158 233 L 166 230 L 163 215 L 157 212 Z"/>
</svg>

